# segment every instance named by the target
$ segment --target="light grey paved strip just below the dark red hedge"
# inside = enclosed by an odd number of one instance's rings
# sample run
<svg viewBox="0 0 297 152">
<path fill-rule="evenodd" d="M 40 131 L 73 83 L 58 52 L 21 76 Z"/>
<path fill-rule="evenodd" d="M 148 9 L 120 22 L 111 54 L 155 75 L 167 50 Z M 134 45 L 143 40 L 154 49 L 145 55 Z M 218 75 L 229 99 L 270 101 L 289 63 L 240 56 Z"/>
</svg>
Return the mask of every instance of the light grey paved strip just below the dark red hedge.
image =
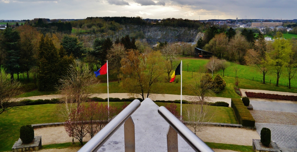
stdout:
<svg viewBox="0 0 297 152">
<path fill-rule="evenodd" d="M 264 102 L 250 100 L 254 110 L 269 110 L 297 113 L 297 104 L 279 103 L 279 102 Z"/>
</svg>

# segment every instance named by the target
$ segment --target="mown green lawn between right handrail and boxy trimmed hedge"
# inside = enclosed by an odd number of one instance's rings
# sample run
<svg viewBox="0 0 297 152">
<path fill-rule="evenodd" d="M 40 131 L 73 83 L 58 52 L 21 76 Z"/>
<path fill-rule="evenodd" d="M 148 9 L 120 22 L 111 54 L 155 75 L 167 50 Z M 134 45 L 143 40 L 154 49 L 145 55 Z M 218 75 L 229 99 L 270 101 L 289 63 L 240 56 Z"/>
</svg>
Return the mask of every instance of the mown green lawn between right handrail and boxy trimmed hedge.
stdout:
<svg viewBox="0 0 297 152">
<path fill-rule="evenodd" d="M 159 107 L 165 106 L 165 103 L 163 103 L 163 102 L 155 102 L 155 103 Z M 176 106 L 177 106 L 176 110 L 178 111 L 178 115 L 180 115 L 181 104 L 176 104 Z M 183 106 L 182 114 L 185 115 L 188 107 L 198 106 L 198 105 L 183 104 L 182 106 Z M 238 124 L 234 110 L 231 107 L 207 106 L 207 119 L 206 120 L 209 120 L 210 118 L 211 118 L 210 122 Z"/>
</svg>

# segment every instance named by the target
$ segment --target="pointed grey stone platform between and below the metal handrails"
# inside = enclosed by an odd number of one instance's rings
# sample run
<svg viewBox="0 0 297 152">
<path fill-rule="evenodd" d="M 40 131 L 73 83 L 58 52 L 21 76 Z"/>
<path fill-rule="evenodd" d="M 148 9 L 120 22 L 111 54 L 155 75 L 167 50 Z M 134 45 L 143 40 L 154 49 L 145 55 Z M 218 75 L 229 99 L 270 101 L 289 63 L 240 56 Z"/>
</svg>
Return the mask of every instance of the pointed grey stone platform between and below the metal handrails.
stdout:
<svg viewBox="0 0 297 152">
<path fill-rule="evenodd" d="M 135 124 L 135 151 L 167 152 L 167 130 L 169 124 L 159 115 L 159 106 L 146 98 L 132 114 Z M 124 125 L 122 125 L 98 151 L 124 152 Z M 194 151 L 178 135 L 178 151 Z"/>
</svg>

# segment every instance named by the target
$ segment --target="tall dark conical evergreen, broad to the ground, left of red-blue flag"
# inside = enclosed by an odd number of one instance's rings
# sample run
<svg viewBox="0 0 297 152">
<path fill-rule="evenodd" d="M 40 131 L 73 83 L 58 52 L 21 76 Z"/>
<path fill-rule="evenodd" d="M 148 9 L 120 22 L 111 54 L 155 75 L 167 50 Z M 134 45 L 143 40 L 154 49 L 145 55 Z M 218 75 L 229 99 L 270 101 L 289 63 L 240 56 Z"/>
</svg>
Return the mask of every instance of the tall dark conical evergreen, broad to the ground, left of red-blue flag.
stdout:
<svg viewBox="0 0 297 152">
<path fill-rule="evenodd" d="M 60 57 L 48 36 L 41 37 L 38 55 L 38 91 L 53 91 L 60 78 Z"/>
</svg>

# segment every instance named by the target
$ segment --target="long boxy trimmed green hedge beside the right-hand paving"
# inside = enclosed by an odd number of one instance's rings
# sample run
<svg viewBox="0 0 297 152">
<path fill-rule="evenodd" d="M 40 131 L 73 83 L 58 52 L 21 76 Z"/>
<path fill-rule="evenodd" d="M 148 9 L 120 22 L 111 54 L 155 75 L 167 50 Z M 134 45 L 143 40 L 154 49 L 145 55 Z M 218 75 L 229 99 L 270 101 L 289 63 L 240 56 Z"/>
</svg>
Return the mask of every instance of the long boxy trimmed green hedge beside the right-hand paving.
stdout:
<svg viewBox="0 0 297 152">
<path fill-rule="evenodd" d="M 242 126 L 254 127 L 255 119 L 243 104 L 241 99 L 231 99 L 231 107 L 234 109 L 236 118 Z"/>
</svg>

